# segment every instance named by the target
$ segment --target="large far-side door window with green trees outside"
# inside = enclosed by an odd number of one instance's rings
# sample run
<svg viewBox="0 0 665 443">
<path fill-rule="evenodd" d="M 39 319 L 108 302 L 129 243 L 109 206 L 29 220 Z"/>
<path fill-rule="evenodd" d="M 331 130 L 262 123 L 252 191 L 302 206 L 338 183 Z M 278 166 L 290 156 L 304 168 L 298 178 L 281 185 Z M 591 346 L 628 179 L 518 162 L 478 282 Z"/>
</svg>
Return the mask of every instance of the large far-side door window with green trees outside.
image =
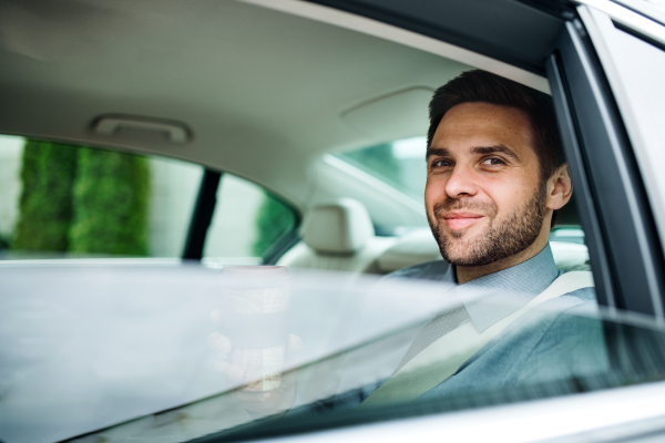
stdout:
<svg viewBox="0 0 665 443">
<path fill-rule="evenodd" d="M 180 257 L 202 168 L 4 136 L 6 258 Z"/>
</svg>

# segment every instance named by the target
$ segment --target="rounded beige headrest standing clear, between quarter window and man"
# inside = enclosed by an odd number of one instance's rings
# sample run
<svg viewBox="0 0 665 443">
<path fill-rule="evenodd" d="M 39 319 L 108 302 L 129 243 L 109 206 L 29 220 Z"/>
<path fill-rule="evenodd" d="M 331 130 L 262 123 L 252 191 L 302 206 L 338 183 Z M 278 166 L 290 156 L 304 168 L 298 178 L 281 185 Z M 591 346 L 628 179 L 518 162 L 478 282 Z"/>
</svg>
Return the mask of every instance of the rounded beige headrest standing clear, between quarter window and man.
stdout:
<svg viewBox="0 0 665 443">
<path fill-rule="evenodd" d="M 303 239 L 323 254 L 354 254 L 374 237 L 371 218 L 362 204 L 337 198 L 309 210 Z"/>
</svg>

